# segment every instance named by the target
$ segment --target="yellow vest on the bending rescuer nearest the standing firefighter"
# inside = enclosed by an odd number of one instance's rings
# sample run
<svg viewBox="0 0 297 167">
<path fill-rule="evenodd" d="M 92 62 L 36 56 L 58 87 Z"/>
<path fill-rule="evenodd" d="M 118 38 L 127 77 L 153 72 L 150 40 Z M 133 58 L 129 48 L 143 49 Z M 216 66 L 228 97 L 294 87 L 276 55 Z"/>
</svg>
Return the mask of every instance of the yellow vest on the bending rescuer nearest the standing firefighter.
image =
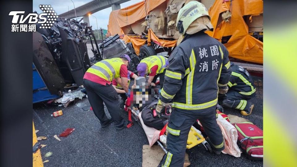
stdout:
<svg viewBox="0 0 297 167">
<path fill-rule="evenodd" d="M 166 64 L 166 60 L 167 58 L 156 55 L 156 56 L 150 56 L 148 58 L 144 58 L 140 62 L 143 62 L 148 65 L 149 74 L 151 73 L 150 69 L 153 66 L 158 65 L 156 74 L 160 74 L 165 70 L 165 67 L 163 66 Z"/>
</svg>

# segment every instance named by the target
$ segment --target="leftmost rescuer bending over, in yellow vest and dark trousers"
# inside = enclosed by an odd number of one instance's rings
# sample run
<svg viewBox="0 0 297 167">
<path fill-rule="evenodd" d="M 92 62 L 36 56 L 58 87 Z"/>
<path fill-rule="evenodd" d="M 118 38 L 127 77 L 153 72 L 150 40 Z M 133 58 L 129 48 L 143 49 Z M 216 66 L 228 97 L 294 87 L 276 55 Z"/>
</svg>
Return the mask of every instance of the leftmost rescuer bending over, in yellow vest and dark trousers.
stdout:
<svg viewBox="0 0 297 167">
<path fill-rule="evenodd" d="M 117 130 L 127 126 L 127 121 L 124 121 L 120 115 L 118 94 L 111 82 L 114 78 L 120 78 L 124 91 L 129 92 L 127 79 L 129 62 L 130 57 L 127 54 L 120 56 L 120 58 L 101 60 L 91 66 L 84 74 L 84 87 L 87 91 L 88 100 L 94 114 L 100 120 L 101 127 L 106 127 L 111 122 L 114 122 Z M 105 115 L 103 102 L 111 119 Z"/>
</svg>

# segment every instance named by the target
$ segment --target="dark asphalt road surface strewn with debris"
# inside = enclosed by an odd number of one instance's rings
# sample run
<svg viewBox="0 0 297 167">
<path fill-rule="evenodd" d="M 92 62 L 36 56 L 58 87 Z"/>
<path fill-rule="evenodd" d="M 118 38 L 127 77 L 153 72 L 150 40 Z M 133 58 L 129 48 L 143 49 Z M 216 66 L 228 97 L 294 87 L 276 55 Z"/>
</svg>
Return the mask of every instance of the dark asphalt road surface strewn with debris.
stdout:
<svg viewBox="0 0 297 167">
<path fill-rule="evenodd" d="M 244 118 L 254 122 L 263 129 L 263 86 L 262 78 L 256 81 L 256 97 L 251 101 L 255 104 L 253 112 Z M 258 85 L 258 86 L 257 86 Z M 33 122 L 38 136 L 47 137 L 41 144 L 42 160 L 48 166 L 141 166 L 142 146 L 149 144 L 143 129 L 136 123 L 131 128 L 115 130 L 113 123 L 102 128 L 99 120 L 91 110 L 84 111 L 82 107 L 89 105 L 88 99 L 77 100 L 67 108 L 57 105 L 33 105 Z M 61 110 L 63 115 L 51 117 L 54 111 Z M 105 112 L 108 114 L 106 108 Z M 127 113 L 120 111 L 127 120 Z M 226 114 L 240 116 L 234 109 L 225 109 Z M 58 141 L 53 136 L 59 135 L 67 128 L 75 128 L 69 136 L 60 137 Z M 53 154 L 45 157 L 47 152 Z M 191 166 L 263 166 L 263 161 L 251 161 L 245 154 L 235 158 L 228 154 L 215 155 L 207 152 L 202 144 L 187 150 Z"/>
</svg>

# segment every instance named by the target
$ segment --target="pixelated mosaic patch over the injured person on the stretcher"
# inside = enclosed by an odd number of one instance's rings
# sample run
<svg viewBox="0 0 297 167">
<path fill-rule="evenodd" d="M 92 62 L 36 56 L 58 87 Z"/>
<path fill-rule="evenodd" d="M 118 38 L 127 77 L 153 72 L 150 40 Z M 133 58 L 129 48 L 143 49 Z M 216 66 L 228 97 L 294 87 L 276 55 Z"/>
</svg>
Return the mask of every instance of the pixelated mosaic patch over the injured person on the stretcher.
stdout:
<svg viewBox="0 0 297 167">
<path fill-rule="evenodd" d="M 154 89 L 149 83 L 143 83 L 142 85 L 136 85 L 132 88 L 133 102 L 131 106 L 141 109 L 144 104 L 147 104 L 153 100 Z"/>
</svg>

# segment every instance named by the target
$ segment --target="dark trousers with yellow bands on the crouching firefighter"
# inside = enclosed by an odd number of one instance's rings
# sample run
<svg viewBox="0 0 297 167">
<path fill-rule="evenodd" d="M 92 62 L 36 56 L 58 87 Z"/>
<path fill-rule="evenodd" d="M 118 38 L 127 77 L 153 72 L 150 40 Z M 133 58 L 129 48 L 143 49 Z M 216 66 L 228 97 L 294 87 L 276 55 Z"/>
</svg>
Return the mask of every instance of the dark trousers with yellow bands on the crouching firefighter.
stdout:
<svg viewBox="0 0 297 167">
<path fill-rule="evenodd" d="M 248 100 L 254 97 L 255 93 L 253 93 L 252 95 L 243 95 L 234 90 L 229 90 L 226 93 L 226 96 L 227 96 L 226 99 L 223 100 L 221 104 L 223 107 L 244 110 L 248 113 L 249 112 L 248 109 L 252 105 L 252 103 L 249 102 Z"/>
</svg>

